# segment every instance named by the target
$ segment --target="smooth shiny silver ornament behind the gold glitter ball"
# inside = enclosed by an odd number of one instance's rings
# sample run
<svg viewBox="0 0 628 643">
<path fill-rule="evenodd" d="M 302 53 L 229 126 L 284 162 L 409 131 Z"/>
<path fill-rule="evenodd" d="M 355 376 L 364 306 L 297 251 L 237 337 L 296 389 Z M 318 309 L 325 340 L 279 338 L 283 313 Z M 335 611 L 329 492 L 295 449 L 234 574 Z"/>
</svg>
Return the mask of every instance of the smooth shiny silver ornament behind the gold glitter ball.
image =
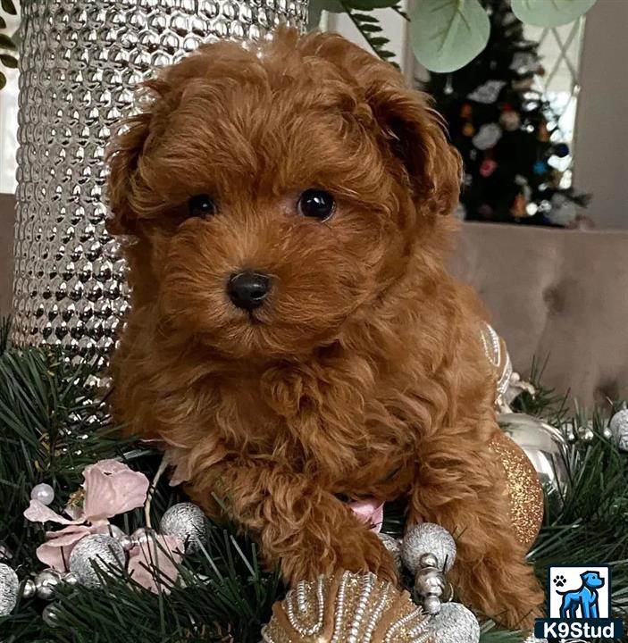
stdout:
<svg viewBox="0 0 628 643">
<path fill-rule="evenodd" d="M 499 413 L 498 422 L 530 458 L 545 491 L 549 515 L 557 515 L 569 484 L 568 447 L 562 431 L 525 413 Z"/>
</svg>

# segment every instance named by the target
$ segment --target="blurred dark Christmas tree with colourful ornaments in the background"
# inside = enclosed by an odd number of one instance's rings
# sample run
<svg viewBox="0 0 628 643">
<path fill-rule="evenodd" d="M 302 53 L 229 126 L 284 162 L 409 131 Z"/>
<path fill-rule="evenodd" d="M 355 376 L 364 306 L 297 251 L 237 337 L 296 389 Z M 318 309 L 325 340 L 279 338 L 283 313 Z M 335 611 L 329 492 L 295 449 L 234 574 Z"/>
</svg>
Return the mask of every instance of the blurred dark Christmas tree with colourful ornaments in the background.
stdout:
<svg viewBox="0 0 628 643">
<path fill-rule="evenodd" d="M 508 0 L 482 0 L 486 49 L 462 69 L 431 74 L 426 89 L 465 162 L 461 206 L 472 221 L 567 226 L 586 197 L 565 188 L 557 160 L 570 154 L 557 114 L 535 83 L 538 43 L 526 40 Z"/>
</svg>

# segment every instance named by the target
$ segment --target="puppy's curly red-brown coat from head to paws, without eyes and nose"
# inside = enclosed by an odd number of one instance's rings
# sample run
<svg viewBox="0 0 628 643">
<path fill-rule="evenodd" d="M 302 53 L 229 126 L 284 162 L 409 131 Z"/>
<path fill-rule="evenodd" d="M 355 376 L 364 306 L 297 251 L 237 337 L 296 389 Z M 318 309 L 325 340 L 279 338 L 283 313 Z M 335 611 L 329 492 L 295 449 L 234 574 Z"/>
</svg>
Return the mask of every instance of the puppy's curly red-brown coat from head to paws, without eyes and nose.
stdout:
<svg viewBox="0 0 628 643">
<path fill-rule="evenodd" d="M 540 591 L 508 521 L 481 308 L 443 256 L 460 165 L 425 96 L 336 35 L 203 47 L 147 84 L 110 150 L 132 306 L 113 408 L 160 438 L 289 580 L 395 576 L 339 497 L 406 497 L 456 535 L 463 600 L 510 625 Z M 330 221 L 297 195 L 335 196 Z M 197 193 L 218 213 L 186 217 Z M 225 283 L 271 275 L 255 316 Z"/>
</svg>

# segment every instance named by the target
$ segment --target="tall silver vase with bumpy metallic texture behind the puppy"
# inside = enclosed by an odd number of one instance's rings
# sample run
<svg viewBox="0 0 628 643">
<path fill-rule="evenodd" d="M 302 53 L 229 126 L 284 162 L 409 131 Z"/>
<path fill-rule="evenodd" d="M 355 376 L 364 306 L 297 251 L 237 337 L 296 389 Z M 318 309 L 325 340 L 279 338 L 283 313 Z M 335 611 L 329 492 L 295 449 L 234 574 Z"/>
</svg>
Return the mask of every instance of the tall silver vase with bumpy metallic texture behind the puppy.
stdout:
<svg viewBox="0 0 628 643">
<path fill-rule="evenodd" d="M 113 346 L 128 292 L 105 231 L 103 153 L 138 81 L 203 42 L 305 29 L 306 16 L 306 0 L 22 2 L 16 342 Z"/>
</svg>

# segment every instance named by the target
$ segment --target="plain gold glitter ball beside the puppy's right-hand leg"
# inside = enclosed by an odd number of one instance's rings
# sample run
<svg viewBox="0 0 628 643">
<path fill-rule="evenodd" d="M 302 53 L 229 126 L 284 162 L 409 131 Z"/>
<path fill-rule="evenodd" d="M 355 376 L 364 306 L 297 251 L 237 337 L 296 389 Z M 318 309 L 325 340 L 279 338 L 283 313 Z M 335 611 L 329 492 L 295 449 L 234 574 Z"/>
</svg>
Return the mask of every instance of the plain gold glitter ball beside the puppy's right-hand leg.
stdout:
<svg viewBox="0 0 628 643">
<path fill-rule="evenodd" d="M 543 489 L 532 462 L 523 449 L 505 433 L 490 443 L 506 472 L 510 498 L 510 520 L 517 540 L 529 549 L 539 535 L 543 522 Z"/>
</svg>

